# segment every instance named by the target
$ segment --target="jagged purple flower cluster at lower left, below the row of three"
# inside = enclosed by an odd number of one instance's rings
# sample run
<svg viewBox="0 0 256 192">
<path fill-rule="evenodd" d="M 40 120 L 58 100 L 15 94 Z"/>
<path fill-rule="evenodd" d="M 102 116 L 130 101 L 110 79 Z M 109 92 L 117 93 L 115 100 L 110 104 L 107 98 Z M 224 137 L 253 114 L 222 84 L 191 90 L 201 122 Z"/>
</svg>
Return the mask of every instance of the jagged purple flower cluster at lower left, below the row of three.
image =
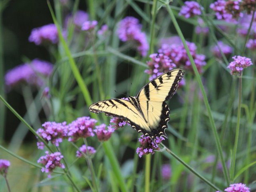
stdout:
<svg viewBox="0 0 256 192">
<path fill-rule="evenodd" d="M 63 158 L 63 155 L 60 152 L 55 152 L 49 154 L 48 151 L 45 152 L 46 155 L 42 156 L 38 159 L 38 163 L 42 163 L 44 167 L 41 169 L 42 172 L 48 173 L 48 178 L 51 177 L 52 171 L 56 167 L 60 167 L 62 169 L 65 168 L 63 163 L 60 163 L 60 160 Z"/>
</svg>

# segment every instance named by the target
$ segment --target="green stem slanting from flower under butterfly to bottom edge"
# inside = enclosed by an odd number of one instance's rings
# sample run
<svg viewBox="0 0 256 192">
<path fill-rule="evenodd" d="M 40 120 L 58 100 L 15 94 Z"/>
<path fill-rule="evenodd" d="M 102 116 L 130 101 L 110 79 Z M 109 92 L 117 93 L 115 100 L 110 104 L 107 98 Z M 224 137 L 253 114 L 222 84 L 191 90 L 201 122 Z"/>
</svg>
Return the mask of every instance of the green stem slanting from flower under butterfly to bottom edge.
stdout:
<svg viewBox="0 0 256 192">
<path fill-rule="evenodd" d="M 194 175 L 196 175 L 198 178 L 200 178 L 202 181 L 204 181 L 208 186 L 213 188 L 214 190 L 221 191 L 217 186 L 215 186 L 213 183 L 211 183 L 209 180 L 204 178 L 201 174 L 196 172 L 192 167 L 190 167 L 188 164 L 186 164 L 182 159 L 180 159 L 176 154 L 174 154 L 170 149 L 168 149 L 164 144 L 161 143 L 161 145 L 166 149 L 166 151 L 171 154 L 176 160 L 178 160 L 182 165 L 184 165 L 190 172 L 192 172 Z"/>
</svg>

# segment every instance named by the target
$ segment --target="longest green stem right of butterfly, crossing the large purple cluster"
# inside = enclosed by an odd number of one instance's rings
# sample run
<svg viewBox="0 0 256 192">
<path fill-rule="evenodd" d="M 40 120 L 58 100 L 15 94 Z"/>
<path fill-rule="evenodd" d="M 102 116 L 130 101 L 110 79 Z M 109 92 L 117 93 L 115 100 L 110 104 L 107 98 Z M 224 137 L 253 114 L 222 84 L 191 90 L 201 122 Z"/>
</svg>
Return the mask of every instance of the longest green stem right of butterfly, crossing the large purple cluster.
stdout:
<svg viewBox="0 0 256 192">
<path fill-rule="evenodd" d="M 194 62 L 194 59 L 192 58 L 192 55 L 188 49 L 188 46 L 186 44 L 186 40 L 180 30 L 180 27 L 178 25 L 178 22 L 172 12 L 172 9 L 170 8 L 170 6 L 168 4 L 166 4 L 166 8 L 170 14 L 170 17 L 172 18 L 172 22 L 174 24 L 174 27 L 176 28 L 176 31 L 178 32 L 178 35 L 180 36 L 181 40 L 182 40 L 182 43 L 184 44 L 184 48 L 186 49 L 186 52 L 188 54 L 188 58 L 191 62 L 191 66 L 193 68 L 193 71 L 196 75 L 196 80 L 198 81 L 198 84 L 199 84 L 199 87 L 200 87 L 200 90 L 202 92 L 202 95 L 203 95 L 203 99 L 204 99 L 204 104 L 206 106 L 206 110 L 208 112 L 208 117 L 209 117 L 209 121 L 210 121 L 210 125 L 211 125 L 211 128 L 212 128 L 212 132 L 213 132 L 213 135 L 214 135 L 214 140 L 215 140 L 215 143 L 216 143 L 216 147 L 217 147 L 217 150 L 218 150 L 218 154 L 220 156 L 220 160 L 221 160 L 221 163 L 222 163 L 222 167 L 223 167 L 223 173 L 224 173 L 224 177 L 225 177 L 225 180 L 226 180 L 226 184 L 229 185 L 230 183 L 230 179 L 228 177 L 228 169 L 226 167 L 226 164 L 225 164 L 225 160 L 224 160 L 224 155 L 223 155 L 223 151 L 222 151 L 222 146 L 220 144 L 220 138 L 218 136 L 218 132 L 217 132 L 217 129 L 216 129 L 216 125 L 214 123 L 214 119 L 213 119 L 213 116 L 212 116 L 212 112 L 211 112 L 211 108 L 210 108 L 210 104 L 208 102 L 208 99 L 207 99 L 207 96 L 206 96 L 206 92 L 204 90 L 204 86 L 203 86 L 203 83 L 202 83 L 202 80 L 200 78 L 200 74 L 196 68 L 196 64 Z"/>
</svg>

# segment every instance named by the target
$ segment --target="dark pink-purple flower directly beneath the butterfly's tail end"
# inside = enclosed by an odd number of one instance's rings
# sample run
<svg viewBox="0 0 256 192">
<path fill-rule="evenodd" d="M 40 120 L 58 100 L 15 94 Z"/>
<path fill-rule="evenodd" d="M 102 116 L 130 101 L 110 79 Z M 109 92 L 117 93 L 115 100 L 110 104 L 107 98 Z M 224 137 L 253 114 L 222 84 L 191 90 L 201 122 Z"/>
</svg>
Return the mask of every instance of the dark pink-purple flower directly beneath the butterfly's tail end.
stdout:
<svg viewBox="0 0 256 192">
<path fill-rule="evenodd" d="M 164 140 L 164 138 L 160 137 L 156 137 L 155 139 L 155 143 L 150 139 L 150 137 L 148 136 L 140 136 L 139 138 L 139 142 L 141 147 L 138 147 L 136 150 L 136 153 L 139 155 L 139 157 L 141 158 L 142 155 L 146 155 L 146 154 L 154 154 L 155 150 L 160 150 L 158 144 L 160 144 L 160 142 Z"/>
</svg>

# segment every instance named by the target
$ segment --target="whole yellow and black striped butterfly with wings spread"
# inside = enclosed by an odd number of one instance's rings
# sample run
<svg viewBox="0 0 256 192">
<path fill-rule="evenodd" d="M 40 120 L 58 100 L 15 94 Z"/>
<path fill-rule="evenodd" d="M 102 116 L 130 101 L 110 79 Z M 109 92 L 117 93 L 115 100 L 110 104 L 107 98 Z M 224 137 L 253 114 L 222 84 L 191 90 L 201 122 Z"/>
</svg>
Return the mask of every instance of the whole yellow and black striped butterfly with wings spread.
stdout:
<svg viewBox="0 0 256 192">
<path fill-rule="evenodd" d="M 169 121 L 170 110 L 165 101 L 172 98 L 184 76 L 184 70 L 176 68 L 161 74 L 146 84 L 136 95 L 128 100 L 108 99 L 89 106 L 89 110 L 98 114 L 126 119 L 132 128 L 150 136 L 164 136 Z"/>
</svg>

